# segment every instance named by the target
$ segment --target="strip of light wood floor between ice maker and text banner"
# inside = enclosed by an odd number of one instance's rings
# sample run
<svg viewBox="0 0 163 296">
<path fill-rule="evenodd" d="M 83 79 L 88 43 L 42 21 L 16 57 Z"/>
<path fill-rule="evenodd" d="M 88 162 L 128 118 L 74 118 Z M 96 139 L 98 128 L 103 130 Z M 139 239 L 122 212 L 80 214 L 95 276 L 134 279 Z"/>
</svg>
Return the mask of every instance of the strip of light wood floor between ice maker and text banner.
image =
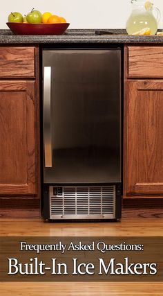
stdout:
<svg viewBox="0 0 163 296">
<path fill-rule="evenodd" d="M 118 223 L 46 223 L 0 219 L 0 236 L 162 236 L 163 218 L 123 218 Z"/>
</svg>

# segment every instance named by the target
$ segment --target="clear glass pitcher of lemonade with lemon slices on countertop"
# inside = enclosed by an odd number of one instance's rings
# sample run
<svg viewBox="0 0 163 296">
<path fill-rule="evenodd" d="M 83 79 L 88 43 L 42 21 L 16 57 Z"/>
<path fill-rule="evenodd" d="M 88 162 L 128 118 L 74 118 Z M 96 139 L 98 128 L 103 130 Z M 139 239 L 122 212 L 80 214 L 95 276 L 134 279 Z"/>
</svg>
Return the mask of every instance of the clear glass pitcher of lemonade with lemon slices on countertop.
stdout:
<svg viewBox="0 0 163 296">
<path fill-rule="evenodd" d="M 157 24 L 160 20 L 160 10 L 153 7 L 153 3 L 144 0 L 131 0 L 133 10 L 126 23 L 126 31 L 129 35 L 155 35 Z M 153 15 L 155 11 L 156 17 Z"/>
</svg>

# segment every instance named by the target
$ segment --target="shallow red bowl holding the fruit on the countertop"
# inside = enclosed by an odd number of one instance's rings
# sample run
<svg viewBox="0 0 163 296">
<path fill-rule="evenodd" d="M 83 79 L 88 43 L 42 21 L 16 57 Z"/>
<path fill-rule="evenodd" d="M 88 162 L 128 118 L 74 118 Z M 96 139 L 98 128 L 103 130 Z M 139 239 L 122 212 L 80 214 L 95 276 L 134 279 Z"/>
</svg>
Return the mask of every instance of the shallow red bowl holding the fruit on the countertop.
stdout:
<svg viewBox="0 0 163 296">
<path fill-rule="evenodd" d="M 62 35 L 70 24 L 6 23 L 16 35 Z"/>
</svg>

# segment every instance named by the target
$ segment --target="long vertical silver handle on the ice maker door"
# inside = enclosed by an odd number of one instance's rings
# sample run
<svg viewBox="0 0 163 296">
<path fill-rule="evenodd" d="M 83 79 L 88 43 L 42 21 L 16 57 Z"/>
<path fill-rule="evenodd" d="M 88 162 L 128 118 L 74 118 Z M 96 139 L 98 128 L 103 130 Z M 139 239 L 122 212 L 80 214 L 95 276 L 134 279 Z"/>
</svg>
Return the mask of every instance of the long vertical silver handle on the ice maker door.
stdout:
<svg viewBox="0 0 163 296">
<path fill-rule="evenodd" d="M 52 167 L 51 67 L 44 67 L 44 154 L 46 168 Z"/>
</svg>

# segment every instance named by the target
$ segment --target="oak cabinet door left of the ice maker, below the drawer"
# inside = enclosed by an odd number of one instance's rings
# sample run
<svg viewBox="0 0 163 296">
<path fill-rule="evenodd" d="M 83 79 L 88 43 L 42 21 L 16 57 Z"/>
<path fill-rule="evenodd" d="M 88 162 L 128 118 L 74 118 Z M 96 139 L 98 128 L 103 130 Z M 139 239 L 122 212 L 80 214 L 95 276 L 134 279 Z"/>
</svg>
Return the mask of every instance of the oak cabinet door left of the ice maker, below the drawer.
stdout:
<svg viewBox="0 0 163 296">
<path fill-rule="evenodd" d="M 35 82 L 0 81 L 0 193 L 36 193 Z"/>
</svg>

